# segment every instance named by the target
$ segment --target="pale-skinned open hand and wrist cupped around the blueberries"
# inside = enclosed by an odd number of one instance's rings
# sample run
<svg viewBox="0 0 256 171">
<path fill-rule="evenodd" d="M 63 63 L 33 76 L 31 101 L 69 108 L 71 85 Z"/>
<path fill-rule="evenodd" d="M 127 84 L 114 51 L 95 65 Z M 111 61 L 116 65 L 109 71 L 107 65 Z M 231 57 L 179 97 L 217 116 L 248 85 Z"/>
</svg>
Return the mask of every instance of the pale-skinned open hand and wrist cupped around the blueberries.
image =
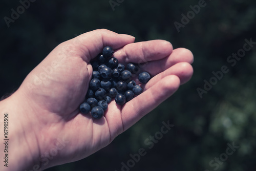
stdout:
<svg viewBox="0 0 256 171">
<path fill-rule="evenodd" d="M 134 41 L 130 35 L 94 30 L 63 42 L 42 60 L 15 93 L 0 101 L 2 129 L 4 113 L 9 117 L 8 167 L 1 162 L 1 170 L 43 170 L 86 158 L 191 78 L 193 54 L 189 50 L 173 50 L 165 40 Z M 90 60 L 105 46 L 113 47 L 121 63 L 143 63 L 142 70 L 153 78 L 142 86 L 142 94 L 123 106 L 112 101 L 97 120 L 81 114 L 78 106 L 92 77 Z M 1 158 L 4 148 L 1 143 Z"/>
</svg>

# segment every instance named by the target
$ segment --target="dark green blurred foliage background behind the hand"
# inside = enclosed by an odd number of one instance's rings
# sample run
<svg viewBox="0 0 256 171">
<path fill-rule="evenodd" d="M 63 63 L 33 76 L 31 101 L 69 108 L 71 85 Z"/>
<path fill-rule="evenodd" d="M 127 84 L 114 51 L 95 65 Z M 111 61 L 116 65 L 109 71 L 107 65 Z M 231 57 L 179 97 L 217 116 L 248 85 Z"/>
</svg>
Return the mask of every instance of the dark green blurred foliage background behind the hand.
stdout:
<svg viewBox="0 0 256 171">
<path fill-rule="evenodd" d="M 190 5 L 198 1 L 126 0 L 113 11 L 108 0 L 40 1 L 10 24 L 4 17 L 19 1 L 1 2 L 1 89 L 10 93 L 26 75 L 62 41 L 80 33 L 105 28 L 131 34 L 136 41 L 165 39 L 174 48 L 184 47 L 194 54 L 194 75 L 153 112 L 118 136 L 109 146 L 90 157 L 47 169 L 121 170 L 130 154 L 146 149 L 146 155 L 131 170 L 255 170 L 256 153 L 256 46 L 235 66 L 227 62 L 243 48 L 245 38 L 256 41 L 256 3 L 248 1 L 205 1 L 206 6 L 180 32 Z M 229 72 L 200 98 L 197 88 L 204 79 L 227 66 Z M 152 149 L 144 140 L 161 129 L 162 121 L 174 124 Z M 228 159 L 211 167 L 227 143 L 240 146 Z M 216 162 L 214 162 L 216 163 Z"/>
</svg>

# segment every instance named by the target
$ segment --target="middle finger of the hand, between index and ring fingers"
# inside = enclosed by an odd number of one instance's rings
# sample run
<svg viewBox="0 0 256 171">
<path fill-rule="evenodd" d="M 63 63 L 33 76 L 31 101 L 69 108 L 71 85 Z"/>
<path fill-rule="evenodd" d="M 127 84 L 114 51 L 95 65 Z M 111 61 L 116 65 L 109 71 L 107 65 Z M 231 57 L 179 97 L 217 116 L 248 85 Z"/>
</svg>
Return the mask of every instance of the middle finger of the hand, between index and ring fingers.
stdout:
<svg viewBox="0 0 256 171">
<path fill-rule="evenodd" d="M 174 49 L 172 54 L 163 59 L 147 62 L 146 65 L 143 65 L 144 67 L 142 68 L 142 70 L 147 71 L 152 76 L 155 76 L 158 73 L 167 70 L 168 68 L 176 65 L 179 62 L 187 62 L 191 64 L 193 63 L 193 60 L 194 57 L 191 51 L 185 48 L 178 48 Z M 181 82 L 183 81 L 181 80 Z"/>
</svg>

